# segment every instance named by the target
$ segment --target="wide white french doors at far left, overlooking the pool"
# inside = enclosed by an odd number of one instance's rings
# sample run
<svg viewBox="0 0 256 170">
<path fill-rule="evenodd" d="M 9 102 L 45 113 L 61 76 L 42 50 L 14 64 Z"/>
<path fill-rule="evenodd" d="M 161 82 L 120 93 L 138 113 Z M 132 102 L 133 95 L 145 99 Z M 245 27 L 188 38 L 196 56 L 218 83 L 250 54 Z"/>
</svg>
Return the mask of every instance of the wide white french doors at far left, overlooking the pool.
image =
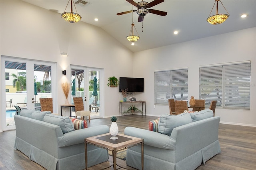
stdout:
<svg viewBox="0 0 256 170">
<path fill-rule="evenodd" d="M 52 97 L 56 112 L 55 70 L 55 63 L 1 56 L 1 92 L 5 94 L 1 97 L 3 130 L 15 129 L 16 105 L 40 110 L 39 99 Z"/>
</svg>

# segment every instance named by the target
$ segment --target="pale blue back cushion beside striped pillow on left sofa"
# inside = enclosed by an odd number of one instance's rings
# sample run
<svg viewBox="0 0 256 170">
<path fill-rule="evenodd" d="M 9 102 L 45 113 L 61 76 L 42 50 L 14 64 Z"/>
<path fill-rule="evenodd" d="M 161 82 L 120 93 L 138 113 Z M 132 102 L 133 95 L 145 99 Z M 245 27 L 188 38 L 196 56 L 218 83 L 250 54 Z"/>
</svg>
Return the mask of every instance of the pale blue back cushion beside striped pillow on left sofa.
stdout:
<svg viewBox="0 0 256 170">
<path fill-rule="evenodd" d="M 44 122 L 60 126 L 63 134 L 75 130 L 72 121 L 67 116 L 46 114 L 44 116 Z"/>
</svg>

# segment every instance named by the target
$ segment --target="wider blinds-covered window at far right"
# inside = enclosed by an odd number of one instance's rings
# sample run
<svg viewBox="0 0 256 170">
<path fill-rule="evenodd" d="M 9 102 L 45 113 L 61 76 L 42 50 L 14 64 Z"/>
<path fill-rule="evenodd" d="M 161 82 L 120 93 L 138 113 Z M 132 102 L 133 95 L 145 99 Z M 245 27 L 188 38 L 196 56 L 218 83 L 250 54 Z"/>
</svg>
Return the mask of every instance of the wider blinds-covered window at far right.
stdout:
<svg viewBox="0 0 256 170">
<path fill-rule="evenodd" d="M 225 109 L 250 109 L 250 61 L 199 68 L 199 96 Z"/>
</svg>

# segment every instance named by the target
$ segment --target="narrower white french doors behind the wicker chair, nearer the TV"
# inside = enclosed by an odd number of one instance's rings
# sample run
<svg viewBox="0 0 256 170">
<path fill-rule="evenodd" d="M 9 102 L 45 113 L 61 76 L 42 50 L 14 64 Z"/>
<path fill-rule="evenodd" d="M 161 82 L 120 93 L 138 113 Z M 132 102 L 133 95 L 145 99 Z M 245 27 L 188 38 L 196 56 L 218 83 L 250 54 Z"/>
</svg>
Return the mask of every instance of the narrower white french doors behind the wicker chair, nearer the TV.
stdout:
<svg viewBox="0 0 256 170">
<path fill-rule="evenodd" d="M 91 118 L 103 117 L 104 115 L 104 88 L 102 81 L 103 69 L 71 65 L 71 103 L 73 97 L 82 97 L 84 109 L 91 111 Z M 75 82 L 75 83 L 74 83 Z M 96 85 L 94 85 L 94 83 Z M 95 92 L 97 91 L 97 93 Z"/>
</svg>

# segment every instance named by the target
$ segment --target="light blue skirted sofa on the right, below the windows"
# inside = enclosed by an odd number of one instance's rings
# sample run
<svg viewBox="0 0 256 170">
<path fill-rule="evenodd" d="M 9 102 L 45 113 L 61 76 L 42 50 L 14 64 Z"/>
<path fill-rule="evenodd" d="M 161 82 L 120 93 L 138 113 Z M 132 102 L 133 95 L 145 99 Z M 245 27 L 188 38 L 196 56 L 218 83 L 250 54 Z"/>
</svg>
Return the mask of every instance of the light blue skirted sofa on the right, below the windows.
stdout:
<svg viewBox="0 0 256 170">
<path fill-rule="evenodd" d="M 164 132 L 170 126 L 178 125 L 177 116 L 163 115 L 164 119 L 162 123 L 159 122 L 158 130 Z M 124 134 L 144 139 L 144 169 L 194 170 L 221 152 L 218 141 L 220 117 L 213 117 L 213 112 L 209 109 L 181 116 L 186 116 L 186 121 L 190 123 L 184 121 L 184 125 L 173 128 L 170 136 L 135 127 L 124 129 Z M 169 118 L 175 118 L 172 125 L 168 125 Z M 140 146 L 128 148 L 126 164 L 141 169 Z"/>
</svg>

